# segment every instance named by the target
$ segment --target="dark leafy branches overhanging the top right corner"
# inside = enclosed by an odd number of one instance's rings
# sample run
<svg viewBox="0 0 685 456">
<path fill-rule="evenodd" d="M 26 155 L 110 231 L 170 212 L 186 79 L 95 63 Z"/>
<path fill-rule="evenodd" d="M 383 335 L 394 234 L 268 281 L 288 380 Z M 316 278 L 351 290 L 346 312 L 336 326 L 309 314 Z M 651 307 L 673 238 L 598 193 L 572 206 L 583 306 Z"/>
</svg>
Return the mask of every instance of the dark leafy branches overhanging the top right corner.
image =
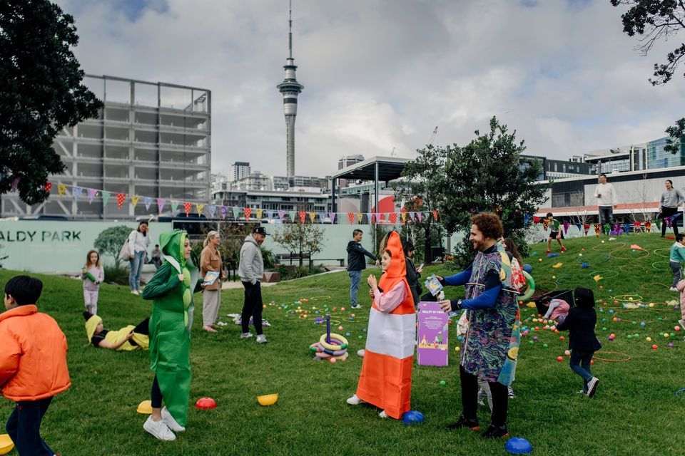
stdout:
<svg viewBox="0 0 685 456">
<path fill-rule="evenodd" d="M 646 56 L 657 41 L 669 41 L 685 29 L 685 2 L 683 0 L 611 0 L 613 6 L 629 6 L 621 15 L 623 31 L 628 36 L 639 36 L 636 48 Z M 673 78 L 676 69 L 685 61 L 685 43 L 680 43 L 666 54 L 665 63 L 654 63 L 652 86 L 661 86 Z M 683 75 L 685 76 L 685 74 Z M 676 120 L 666 128 L 669 139 L 664 150 L 672 154 L 681 151 L 685 136 L 685 118 Z"/>
</svg>

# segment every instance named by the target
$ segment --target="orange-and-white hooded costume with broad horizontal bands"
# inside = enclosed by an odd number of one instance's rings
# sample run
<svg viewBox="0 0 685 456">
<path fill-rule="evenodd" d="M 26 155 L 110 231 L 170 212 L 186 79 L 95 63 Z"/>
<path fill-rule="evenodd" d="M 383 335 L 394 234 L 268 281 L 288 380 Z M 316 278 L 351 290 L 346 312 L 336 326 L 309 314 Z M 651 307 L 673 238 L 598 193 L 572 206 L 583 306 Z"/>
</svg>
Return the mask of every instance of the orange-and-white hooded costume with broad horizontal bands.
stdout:
<svg viewBox="0 0 685 456">
<path fill-rule="evenodd" d="M 410 410 L 416 309 L 407 284 L 405 255 L 397 232 L 390 233 L 386 249 L 392 259 L 378 282 L 383 293 L 373 300 L 357 397 L 399 420 Z M 382 305 L 377 302 L 383 295 L 389 298 L 391 294 L 401 299 L 400 304 L 388 306 L 385 302 Z"/>
</svg>

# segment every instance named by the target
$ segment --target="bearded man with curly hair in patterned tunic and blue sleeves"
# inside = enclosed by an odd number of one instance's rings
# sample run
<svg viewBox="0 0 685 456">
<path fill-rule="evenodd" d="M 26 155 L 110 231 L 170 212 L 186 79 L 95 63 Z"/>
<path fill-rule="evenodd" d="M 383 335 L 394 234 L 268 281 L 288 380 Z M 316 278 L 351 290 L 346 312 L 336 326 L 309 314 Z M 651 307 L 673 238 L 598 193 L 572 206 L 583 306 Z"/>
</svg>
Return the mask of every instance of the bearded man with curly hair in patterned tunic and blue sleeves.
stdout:
<svg viewBox="0 0 685 456">
<path fill-rule="evenodd" d="M 480 428 L 478 381 L 487 381 L 492 392 L 492 420 L 483 437 L 506 437 L 507 386 L 514 380 L 520 325 L 511 262 L 497 243 L 502 237 L 497 214 L 481 212 L 471 217 L 471 223 L 469 239 L 477 252 L 472 265 L 459 274 L 438 277 L 443 285 L 465 286 L 465 299 L 441 301 L 440 305 L 446 312 L 466 309 L 469 321 L 459 366 L 462 416 L 449 428 Z"/>
</svg>

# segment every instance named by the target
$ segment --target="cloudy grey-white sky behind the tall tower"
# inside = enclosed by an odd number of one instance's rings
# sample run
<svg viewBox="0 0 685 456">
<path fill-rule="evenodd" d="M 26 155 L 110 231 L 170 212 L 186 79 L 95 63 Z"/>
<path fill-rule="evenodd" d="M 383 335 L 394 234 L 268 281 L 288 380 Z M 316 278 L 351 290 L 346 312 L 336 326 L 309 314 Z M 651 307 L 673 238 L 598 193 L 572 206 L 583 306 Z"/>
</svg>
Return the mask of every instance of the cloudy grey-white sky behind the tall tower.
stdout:
<svg viewBox="0 0 685 456">
<path fill-rule="evenodd" d="M 212 170 L 235 161 L 285 175 L 288 0 L 57 0 L 76 20 L 86 73 L 212 91 Z M 649 56 L 609 0 L 293 0 L 305 86 L 295 173 L 330 175 L 342 155 L 415 157 L 464 145 L 497 115 L 527 153 L 571 155 L 664 136 L 685 78 L 652 87 Z M 677 41 L 677 43 L 676 43 Z"/>
</svg>

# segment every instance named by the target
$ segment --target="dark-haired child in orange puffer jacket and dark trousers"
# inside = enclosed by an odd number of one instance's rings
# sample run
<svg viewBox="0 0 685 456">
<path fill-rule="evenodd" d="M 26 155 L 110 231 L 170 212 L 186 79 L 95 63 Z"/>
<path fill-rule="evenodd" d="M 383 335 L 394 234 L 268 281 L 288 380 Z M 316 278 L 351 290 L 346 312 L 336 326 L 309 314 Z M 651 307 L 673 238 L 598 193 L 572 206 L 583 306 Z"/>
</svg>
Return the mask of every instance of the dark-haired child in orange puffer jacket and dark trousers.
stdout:
<svg viewBox="0 0 685 456">
<path fill-rule="evenodd" d="M 41 439 L 41 420 L 52 397 L 71 386 L 66 337 L 36 307 L 43 283 L 15 276 L 5 284 L 0 314 L 0 388 L 16 407 L 5 426 L 19 456 L 54 456 Z"/>
</svg>

